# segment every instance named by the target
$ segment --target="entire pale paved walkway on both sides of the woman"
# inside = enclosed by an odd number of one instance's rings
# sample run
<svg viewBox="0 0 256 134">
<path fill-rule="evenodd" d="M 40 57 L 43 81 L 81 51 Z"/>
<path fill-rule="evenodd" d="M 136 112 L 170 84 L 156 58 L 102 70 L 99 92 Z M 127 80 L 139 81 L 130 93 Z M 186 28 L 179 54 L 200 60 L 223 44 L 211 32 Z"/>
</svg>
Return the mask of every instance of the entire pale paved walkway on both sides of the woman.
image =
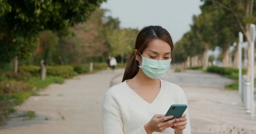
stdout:
<svg viewBox="0 0 256 134">
<path fill-rule="evenodd" d="M 103 134 L 102 98 L 111 85 L 122 81 L 122 73 L 102 71 L 51 85 L 41 92 L 48 96 L 26 100 L 0 127 L 0 134 Z M 121 75 L 114 78 L 117 74 Z M 163 79 L 186 92 L 192 134 L 256 134 L 256 120 L 245 114 L 238 92 L 223 88 L 232 80 L 201 71 L 169 72 Z M 29 110 L 35 111 L 37 117 L 15 117 Z M 233 133 L 227 133 L 234 127 Z"/>
</svg>

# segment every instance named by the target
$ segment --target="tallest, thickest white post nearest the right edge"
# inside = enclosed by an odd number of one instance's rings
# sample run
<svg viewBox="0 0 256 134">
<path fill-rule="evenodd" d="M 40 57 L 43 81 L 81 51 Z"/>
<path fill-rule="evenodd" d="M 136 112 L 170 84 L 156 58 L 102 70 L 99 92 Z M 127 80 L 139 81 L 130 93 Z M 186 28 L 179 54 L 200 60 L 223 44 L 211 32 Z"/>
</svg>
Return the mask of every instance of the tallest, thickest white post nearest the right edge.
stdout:
<svg viewBox="0 0 256 134">
<path fill-rule="evenodd" d="M 255 108 L 254 108 L 254 42 L 255 42 L 255 25 L 250 24 L 250 81 L 251 81 L 251 92 L 250 92 L 250 101 L 251 101 L 251 119 L 254 118 Z"/>
</svg>

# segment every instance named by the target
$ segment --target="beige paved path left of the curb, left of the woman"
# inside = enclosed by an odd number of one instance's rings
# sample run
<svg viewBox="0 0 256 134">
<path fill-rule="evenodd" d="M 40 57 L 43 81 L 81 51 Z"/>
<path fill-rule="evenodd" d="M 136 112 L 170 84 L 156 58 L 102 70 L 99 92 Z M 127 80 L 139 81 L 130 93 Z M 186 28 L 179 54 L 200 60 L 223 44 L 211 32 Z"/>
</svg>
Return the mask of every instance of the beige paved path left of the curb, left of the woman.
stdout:
<svg viewBox="0 0 256 134">
<path fill-rule="evenodd" d="M 102 71 L 80 75 L 64 84 L 52 84 L 41 92 L 49 96 L 32 96 L 0 134 L 103 134 L 102 99 L 111 78 L 121 73 Z M 37 117 L 15 117 L 23 111 L 35 111 Z"/>
</svg>

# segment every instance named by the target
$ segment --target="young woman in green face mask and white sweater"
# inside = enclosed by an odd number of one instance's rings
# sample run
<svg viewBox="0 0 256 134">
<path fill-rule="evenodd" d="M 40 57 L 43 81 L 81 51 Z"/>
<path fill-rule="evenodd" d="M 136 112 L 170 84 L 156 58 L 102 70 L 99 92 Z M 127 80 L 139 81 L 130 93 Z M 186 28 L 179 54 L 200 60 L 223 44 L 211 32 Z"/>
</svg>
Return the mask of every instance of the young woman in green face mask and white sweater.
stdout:
<svg viewBox="0 0 256 134">
<path fill-rule="evenodd" d="M 137 36 L 121 84 L 108 89 L 102 105 L 105 134 L 190 134 L 188 110 L 164 117 L 172 104 L 187 104 L 179 86 L 160 79 L 169 69 L 172 37 L 161 26 L 143 28 Z"/>
</svg>

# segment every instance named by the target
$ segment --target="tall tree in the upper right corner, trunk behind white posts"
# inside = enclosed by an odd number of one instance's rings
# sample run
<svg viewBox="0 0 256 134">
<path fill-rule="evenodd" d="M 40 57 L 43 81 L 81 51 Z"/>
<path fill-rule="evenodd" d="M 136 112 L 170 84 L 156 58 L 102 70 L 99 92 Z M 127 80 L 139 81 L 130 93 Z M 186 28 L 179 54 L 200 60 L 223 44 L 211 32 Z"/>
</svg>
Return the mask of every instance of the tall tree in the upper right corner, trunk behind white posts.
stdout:
<svg viewBox="0 0 256 134">
<path fill-rule="evenodd" d="M 239 30 L 244 33 L 244 36 L 250 45 L 250 24 L 256 22 L 256 11 L 254 7 L 256 3 L 254 0 L 201 0 L 204 1 L 205 7 L 221 9 L 226 12 L 231 20 L 236 20 L 239 25 Z M 238 33 L 236 33 L 238 34 Z M 255 47 L 256 50 L 256 47 Z M 250 67 L 250 47 L 248 51 L 247 66 Z M 256 54 L 254 54 L 256 57 Z M 256 62 L 255 62 L 256 64 Z M 250 68 L 247 69 L 247 78 L 250 78 Z"/>
</svg>

